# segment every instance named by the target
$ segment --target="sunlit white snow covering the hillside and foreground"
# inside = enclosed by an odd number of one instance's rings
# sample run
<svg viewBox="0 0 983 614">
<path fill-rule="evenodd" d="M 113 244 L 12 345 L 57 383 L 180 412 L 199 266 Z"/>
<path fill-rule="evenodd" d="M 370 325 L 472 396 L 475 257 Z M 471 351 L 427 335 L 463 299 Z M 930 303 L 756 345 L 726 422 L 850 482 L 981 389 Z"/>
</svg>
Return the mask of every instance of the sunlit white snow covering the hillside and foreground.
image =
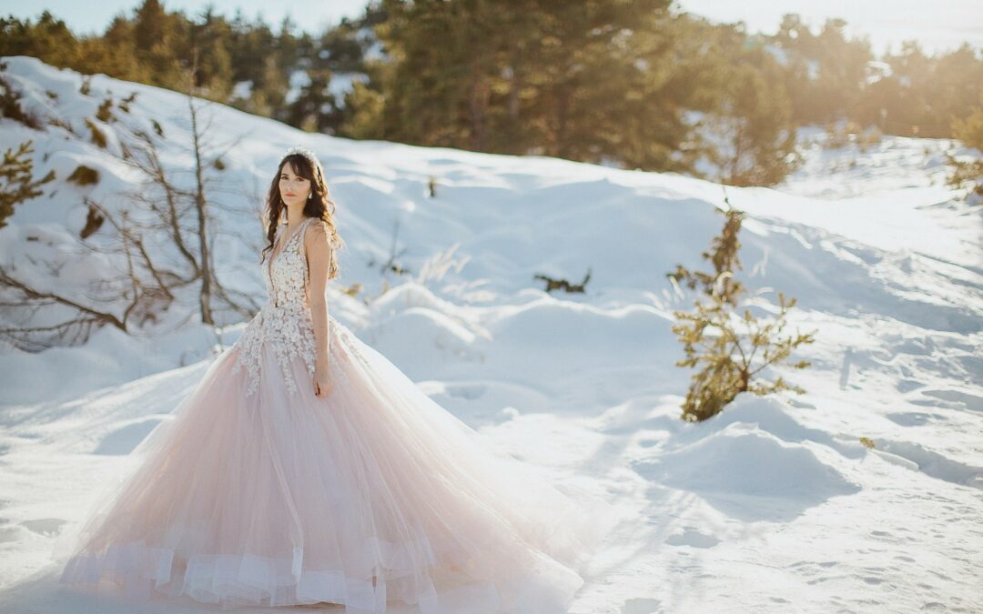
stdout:
<svg viewBox="0 0 983 614">
<path fill-rule="evenodd" d="M 73 72 L 5 61 L 26 107 L 80 135 L 106 92 L 140 92 L 117 116 L 156 119 L 168 168 L 191 167 L 181 95 L 98 76 L 86 96 Z M 312 147 L 348 244 L 329 291 L 335 316 L 502 451 L 625 513 L 571 612 L 983 611 L 983 208 L 942 183 L 953 143 L 808 146 L 778 189 L 724 190 L 206 109 L 215 147 L 241 138 L 214 194 L 224 283 L 264 300 L 262 194 L 287 146 Z M 116 147 L 118 124 L 97 123 Z M 123 206 L 132 171 L 63 129 L 7 119 L 0 129 L 0 147 L 33 139 L 37 175 L 59 178 L 0 230 L 0 264 L 66 292 L 106 275 L 109 261 L 73 257 L 71 235 L 83 196 Z M 80 163 L 100 170 L 97 186 L 64 182 Z M 795 357 L 810 368 L 782 371 L 806 394 L 741 396 L 690 424 L 678 418 L 690 371 L 673 364 L 682 353 L 669 327 L 693 297 L 673 294 L 665 273 L 706 268 L 700 251 L 721 230 L 724 196 L 748 212 L 751 294 L 765 307 L 780 290 L 795 297 L 789 326 L 817 341 Z M 397 223 L 412 275 L 390 275 L 382 294 Z M 60 274 L 42 259 L 60 260 Z M 547 294 L 533 277 L 579 282 L 588 269 L 582 295 Z M 342 292 L 356 282 L 356 298 Z M 127 611 L 58 586 L 50 557 L 241 332 L 240 322 L 216 335 L 194 306 L 183 297 L 140 337 L 107 328 L 83 347 L 0 352 L 0 611 Z"/>
</svg>

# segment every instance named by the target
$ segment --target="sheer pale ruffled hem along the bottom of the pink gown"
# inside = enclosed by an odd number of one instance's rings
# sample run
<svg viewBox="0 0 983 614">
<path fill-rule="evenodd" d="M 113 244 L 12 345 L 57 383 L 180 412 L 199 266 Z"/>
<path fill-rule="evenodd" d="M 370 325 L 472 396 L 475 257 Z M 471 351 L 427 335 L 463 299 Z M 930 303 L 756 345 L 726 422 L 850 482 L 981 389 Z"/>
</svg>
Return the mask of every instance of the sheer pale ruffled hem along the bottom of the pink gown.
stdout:
<svg viewBox="0 0 983 614">
<path fill-rule="evenodd" d="M 59 583 L 98 586 L 103 580 L 109 581 L 122 587 L 125 599 L 138 603 L 187 595 L 201 603 L 218 604 L 223 610 L 332 603 L 344 605 L 346 614 L 386 612 L 394 603 L 400 604 L 399 612 L 419 614 L 559 614 L 567 611 L 574 592 L 583 584 L 578 575 L 562 567 L 535 568 L 530 578 L 513 578 L 502 584 L 512 595 L 514 603 L 510 606 L 491 581 L 414 585 L 414 570 L 398 567 L 400 552 L 405 553 L 406 547 L 386 542 L 379 545 L 377 552 L 392 566 L 383 567 L 381 578 L 351 578 L 339 570 L 305 569 L 300 547 L 294 548 L 290 558 L 193 554 L 183 559 L 173 548 L 135 542 L 110 546 L 100 554 L 73 556 Z M 549 575 L 554 577 L 549 579 Z M 405 606 L 412 607 L 407 610 Z"/>
</svg>

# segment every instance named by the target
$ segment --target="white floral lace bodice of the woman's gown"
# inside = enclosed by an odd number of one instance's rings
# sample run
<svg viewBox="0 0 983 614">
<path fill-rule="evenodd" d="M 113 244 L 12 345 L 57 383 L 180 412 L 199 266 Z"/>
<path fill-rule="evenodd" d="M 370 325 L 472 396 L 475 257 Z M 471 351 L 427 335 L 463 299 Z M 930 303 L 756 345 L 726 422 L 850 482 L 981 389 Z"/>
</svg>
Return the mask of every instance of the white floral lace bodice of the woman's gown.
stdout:
<svg viewBox="0 0 983 614">
<path fill-rule="evenodd" d="M 268 300 L 236 342 L 239 356 L 232 371 L 236 373 L 243 366 L 248 369 L 250 382 L 247 396 L 256 392 L 260 382 L 260 351 L 263 343 L 271 344 L 275 350 L 287 389 L 291 393 L 297 392 L 298 383 L 294 381 L 290 370 L 292 360 L 302 359 L 308 373 L 314 376 L 316 341 L 308 296 L 310 272 L 304 251 L 304 234 L 314 221 L 315 218 L 308 218 L 301 222 L 285 241 L 283 235 L 286 225 L 281 225 L 277 229 L 270 257 L 262 264 Z M 281 246 L 281 243 L 284 245 Z M 328 314 L 328 350 L 331 363 L 334 362 L 336 345 L 333 341 L 341 332 L 338 330 L 339 326 L 337 320 Z M 341 369 L 332 369 L 332 372 L 344 375 Z"/>
</svg>

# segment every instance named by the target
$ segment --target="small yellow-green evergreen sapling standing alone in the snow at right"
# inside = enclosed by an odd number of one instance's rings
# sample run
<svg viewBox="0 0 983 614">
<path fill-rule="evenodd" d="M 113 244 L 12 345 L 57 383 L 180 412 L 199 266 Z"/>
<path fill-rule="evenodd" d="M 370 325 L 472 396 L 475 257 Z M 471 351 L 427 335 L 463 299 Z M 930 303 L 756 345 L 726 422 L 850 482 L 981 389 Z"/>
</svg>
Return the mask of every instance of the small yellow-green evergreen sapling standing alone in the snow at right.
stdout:
<svg viewBox="0 0 983 614">
<path fill-rule="evenodd" d="M 677 288 L 683 283 L 691 290 L 700 287 L 707 297 L 706 301 L 694 301 L 692 312 L 675 311 L 677 323 L 672 325 L 672 332 L 686 353 L 686 358 L 677 361 L 676 366 L 699 369 L 692 376 L 680 416 L 691 422 L 716 416 L 741 392 L 759 396 L 780 390 L 804 393 L 803 388 L 781 376 L 766 381 L 759 373 L 769 366 L 785 363 L 795 348 L 815 340 L 816 331 L 782 335 L 785 314 L 795 306 L 795 299 L 786 300 L 782 292 L 779 292 L 779 312 L 772 319 L 760 321 L 746 307 L 743 315 L 738 313 L 739 297 L 746 291 L 734 278 L 734 271 L 743 268 L 737 255 L 740 250 L 737 233 L 744 213 L 730 207 L 723 214 L 726 216 L 723 233 L 714 238 L 711 250 L 702 254 L 713 263 L 714 272 L 689 271 L 678 264 L 675 271 L 666 274 Z M 799 361 L 790 366 L 805 368 L 809 364 Z"/>
</svg>

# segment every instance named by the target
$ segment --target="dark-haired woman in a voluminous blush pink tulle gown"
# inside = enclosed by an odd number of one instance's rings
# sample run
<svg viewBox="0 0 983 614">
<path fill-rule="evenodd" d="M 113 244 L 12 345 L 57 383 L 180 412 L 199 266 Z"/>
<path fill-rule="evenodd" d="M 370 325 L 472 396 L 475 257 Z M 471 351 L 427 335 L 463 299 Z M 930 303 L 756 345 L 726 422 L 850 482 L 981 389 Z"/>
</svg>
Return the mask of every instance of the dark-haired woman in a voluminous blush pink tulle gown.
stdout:
<svg viewBox="0 0 983 614">
<path fill-rule="evenodd" d="M 315 153 L 290 148 L 267 303 L 134 450 L 60 582 L 222 608 L 565 612 L 613 508 L 496 454 L 328 313 L 333 205 Z"/>
</svg>

